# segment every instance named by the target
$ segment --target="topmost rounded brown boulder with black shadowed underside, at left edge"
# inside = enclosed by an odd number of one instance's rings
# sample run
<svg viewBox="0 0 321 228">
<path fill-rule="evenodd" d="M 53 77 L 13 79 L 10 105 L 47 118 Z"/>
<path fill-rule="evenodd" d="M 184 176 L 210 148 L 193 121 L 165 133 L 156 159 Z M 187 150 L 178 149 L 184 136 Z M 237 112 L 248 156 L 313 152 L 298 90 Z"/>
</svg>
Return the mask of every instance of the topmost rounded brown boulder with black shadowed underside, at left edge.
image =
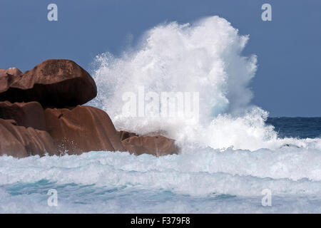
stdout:
<svg viewBox="0 0 321 228">
<path fill-rule="evenodd" d="M 93 78 L 75 62 L 50 59 L 31 71 L 0 73 L 0 101 L 38 101 L 44 107 L 66 108 L 87 103 L 97 95 Z"/>
</svg>

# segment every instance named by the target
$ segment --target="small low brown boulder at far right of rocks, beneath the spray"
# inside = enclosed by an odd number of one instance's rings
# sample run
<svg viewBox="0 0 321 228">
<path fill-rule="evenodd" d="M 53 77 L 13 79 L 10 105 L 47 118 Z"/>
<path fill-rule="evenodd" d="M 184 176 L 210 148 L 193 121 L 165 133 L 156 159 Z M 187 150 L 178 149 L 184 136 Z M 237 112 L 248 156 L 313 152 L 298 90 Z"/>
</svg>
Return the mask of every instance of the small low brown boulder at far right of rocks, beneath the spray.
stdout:
<svg viewBox="0 0 321 228">
<path fill-rule="evenodd" d="M 133 136 L 121 141 L 123 146 L 134 155 L 173 155 L 178 153 L 175 140 L 162 135 Z"/>
</svg>

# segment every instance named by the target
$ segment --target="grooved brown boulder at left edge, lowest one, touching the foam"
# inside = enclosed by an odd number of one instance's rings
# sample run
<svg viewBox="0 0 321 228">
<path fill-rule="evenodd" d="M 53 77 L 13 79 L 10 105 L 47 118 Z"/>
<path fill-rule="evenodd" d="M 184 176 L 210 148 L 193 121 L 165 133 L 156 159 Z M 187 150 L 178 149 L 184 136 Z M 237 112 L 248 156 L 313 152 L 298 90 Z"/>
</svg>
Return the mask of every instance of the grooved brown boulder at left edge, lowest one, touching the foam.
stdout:
<svg viewBox="0 0 321 228">
<path fill-rule="evenodd" d="M 45 154 L 58 155 L 49 133 L 17 126 L 14 120 L 0 119 L 0 155 L 28 157 Z"/>
</svg>

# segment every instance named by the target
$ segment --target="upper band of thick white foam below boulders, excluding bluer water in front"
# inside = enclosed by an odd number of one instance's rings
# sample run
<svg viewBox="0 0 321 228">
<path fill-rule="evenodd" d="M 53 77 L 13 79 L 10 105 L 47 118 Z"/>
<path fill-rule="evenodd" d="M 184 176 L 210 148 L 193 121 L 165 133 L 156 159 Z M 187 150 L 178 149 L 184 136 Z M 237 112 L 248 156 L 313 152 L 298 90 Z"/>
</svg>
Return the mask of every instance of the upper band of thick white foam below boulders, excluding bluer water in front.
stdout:
<svg viewBox="0 0 321 228">
<path fill-rule="evenodd" d="M 0 157 L 0 182 L 49 180 L 59 185 L 138 186 L 188 195 L 320 194 L 318 150 L 198 150 L 190 155 L 134 156 L 127 152 L 90 152 L 63 157 Z"/>
</svg>

